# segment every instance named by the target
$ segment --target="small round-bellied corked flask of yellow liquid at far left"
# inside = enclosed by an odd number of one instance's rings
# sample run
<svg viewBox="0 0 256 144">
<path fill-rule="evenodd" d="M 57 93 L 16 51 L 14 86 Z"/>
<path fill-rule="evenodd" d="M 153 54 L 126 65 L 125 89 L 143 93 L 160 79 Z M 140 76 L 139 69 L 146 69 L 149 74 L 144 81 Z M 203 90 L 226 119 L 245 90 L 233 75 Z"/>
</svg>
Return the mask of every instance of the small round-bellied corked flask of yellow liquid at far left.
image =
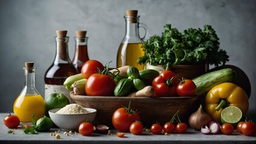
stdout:
<svg viewBox="0 0 256 144">
<path fill-rule="evenodd" d="M 13 112 L 19 117 L 21 122 L 32 122 L 33 114 L 35 121 L 45 115 L 44 100 L 34 85 L 34 72 L 36 68 L 33 66 L 34 62 L 25 62 L 25 67 L 23 68 L 24 88 L 13 104 Z"/>
</svg>

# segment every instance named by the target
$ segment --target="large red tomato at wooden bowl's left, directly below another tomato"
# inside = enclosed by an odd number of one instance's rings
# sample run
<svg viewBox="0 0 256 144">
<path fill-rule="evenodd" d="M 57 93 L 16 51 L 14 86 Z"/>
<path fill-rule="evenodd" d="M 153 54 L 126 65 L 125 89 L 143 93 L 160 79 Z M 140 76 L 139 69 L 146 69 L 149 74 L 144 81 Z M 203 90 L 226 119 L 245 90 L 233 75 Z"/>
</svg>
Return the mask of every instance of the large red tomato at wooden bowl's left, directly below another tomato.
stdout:
<svg viewBox="0 0 256 144">
<path fill-rule="evenodd" d="M 110 96 L 114 95 L 115 80 L 104 74 L 92 74 L 85 85 L 88 96 Z"/>
</svg>

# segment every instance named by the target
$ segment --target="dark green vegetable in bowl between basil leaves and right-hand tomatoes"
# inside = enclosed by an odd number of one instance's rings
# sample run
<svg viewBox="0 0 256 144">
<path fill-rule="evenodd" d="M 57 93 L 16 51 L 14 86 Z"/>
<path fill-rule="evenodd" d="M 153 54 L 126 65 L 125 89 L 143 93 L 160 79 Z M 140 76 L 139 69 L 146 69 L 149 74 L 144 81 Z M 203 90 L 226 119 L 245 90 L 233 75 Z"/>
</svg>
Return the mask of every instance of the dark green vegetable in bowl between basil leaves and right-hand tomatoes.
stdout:
<svg viewBox="0 0 256 144">
<path fill-rule="evenodd" d="M 159 76 L 159 72 L 156 70 L 147 69 L 139 71 L 139 79 L 148 85 L 151 85 L 153 79 L 157 76 Z"/>
</svg>

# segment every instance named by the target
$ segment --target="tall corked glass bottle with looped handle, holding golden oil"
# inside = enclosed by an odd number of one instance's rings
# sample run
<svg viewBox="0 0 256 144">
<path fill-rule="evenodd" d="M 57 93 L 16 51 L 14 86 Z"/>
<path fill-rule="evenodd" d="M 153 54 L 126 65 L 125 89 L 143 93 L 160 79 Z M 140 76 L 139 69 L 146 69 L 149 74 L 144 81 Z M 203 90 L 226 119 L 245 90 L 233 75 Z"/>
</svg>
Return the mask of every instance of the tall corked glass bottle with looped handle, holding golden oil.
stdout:
<svg viewBox="0 0 256 144">
<path fill-rule="evenodd" d="M 137 60 L 139 57 L 144 56 L 142 43 L 149 38 L 147 25 L 139 23 L 138 10 L 126 10 L 126 34 L 118 48 L 117 53 L 117 68 L 124 65 L 130 65 L 144 70 L 144 65 L 139 65 Z M 144 37 L 139 36 L 139 28 L 144 28 L 146 33 Z"/>
</svg>

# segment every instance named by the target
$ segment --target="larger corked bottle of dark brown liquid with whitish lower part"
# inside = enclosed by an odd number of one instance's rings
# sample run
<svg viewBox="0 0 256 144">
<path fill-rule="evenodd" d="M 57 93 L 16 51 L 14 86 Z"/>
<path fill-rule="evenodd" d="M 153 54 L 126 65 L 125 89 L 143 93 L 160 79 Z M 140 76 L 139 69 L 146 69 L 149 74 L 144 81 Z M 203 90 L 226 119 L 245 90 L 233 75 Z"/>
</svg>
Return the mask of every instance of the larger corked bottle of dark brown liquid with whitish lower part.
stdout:
<svg viewBox="0 0 256 144">
<path fill-rule="evenodd" d="M 45 72 L 45 99 L 52 93 L 61 93 L 68 97 L 70 103 L 74 103 L 69 96 L 69 92 L 63 83 L 66 78 L 78 74 L 68 55 L 67 31 L 56 31 L 56 56 L 53 64 Z"/>
</svg>

